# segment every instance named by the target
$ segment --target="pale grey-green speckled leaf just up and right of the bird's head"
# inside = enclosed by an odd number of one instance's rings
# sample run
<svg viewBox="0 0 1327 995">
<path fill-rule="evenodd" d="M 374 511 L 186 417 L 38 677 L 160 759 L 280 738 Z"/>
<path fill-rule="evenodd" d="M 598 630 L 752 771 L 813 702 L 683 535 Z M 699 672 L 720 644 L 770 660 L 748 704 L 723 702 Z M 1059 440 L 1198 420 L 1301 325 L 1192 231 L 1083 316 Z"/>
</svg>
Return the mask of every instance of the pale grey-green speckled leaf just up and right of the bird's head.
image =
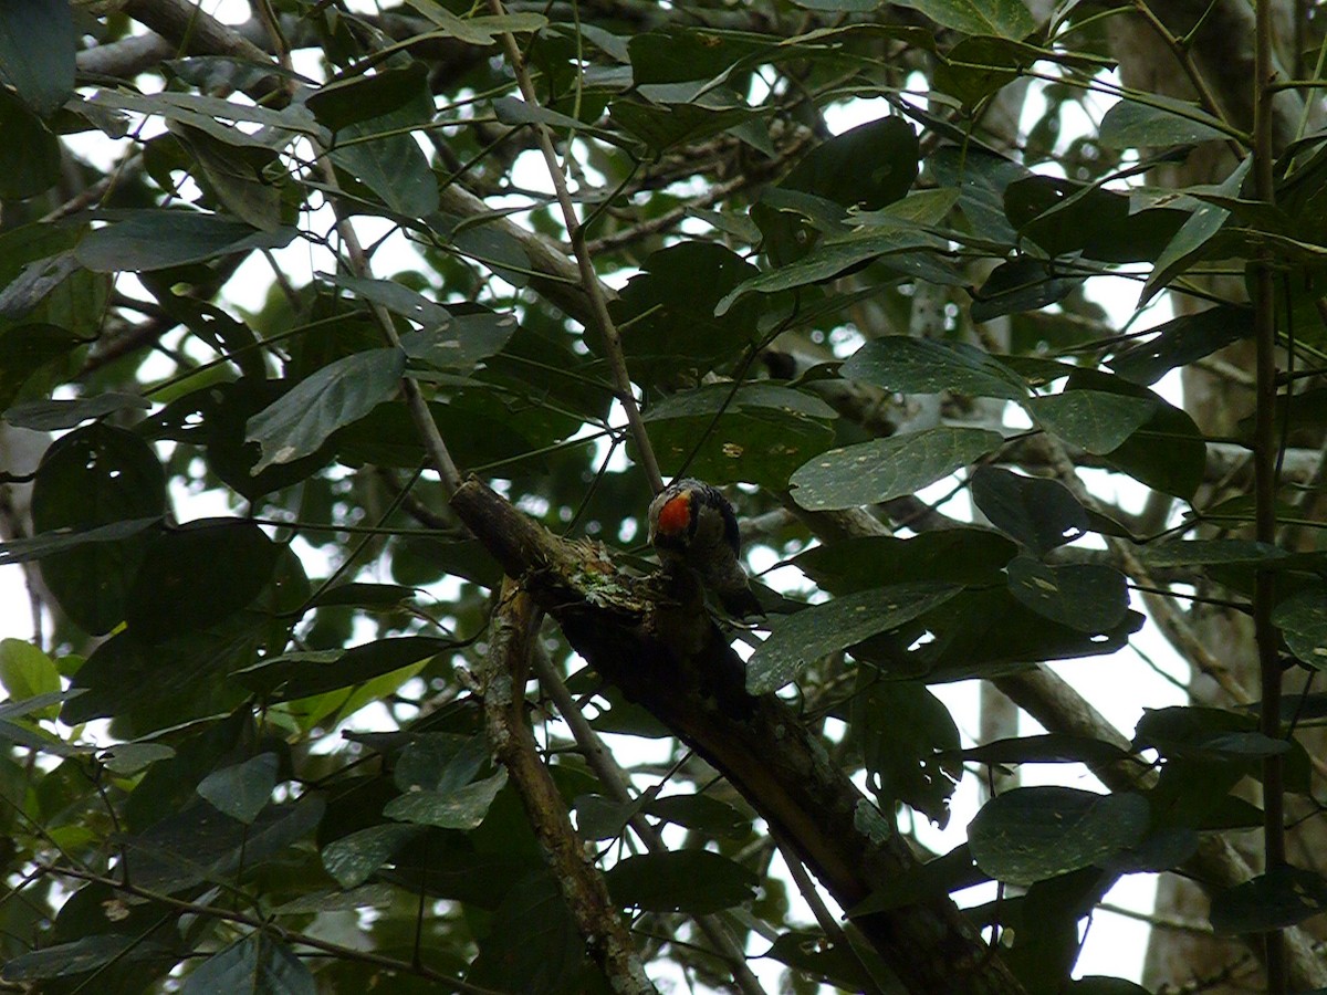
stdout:
<svg viewBox="0 0 1327 995">
<path fill-rule="evenodd" d="M 999 432 L 940 426 L 829 450 L 792 475 L 808 511 L 855 508 L 914 494 L 999 447 Z"/>
</svg>

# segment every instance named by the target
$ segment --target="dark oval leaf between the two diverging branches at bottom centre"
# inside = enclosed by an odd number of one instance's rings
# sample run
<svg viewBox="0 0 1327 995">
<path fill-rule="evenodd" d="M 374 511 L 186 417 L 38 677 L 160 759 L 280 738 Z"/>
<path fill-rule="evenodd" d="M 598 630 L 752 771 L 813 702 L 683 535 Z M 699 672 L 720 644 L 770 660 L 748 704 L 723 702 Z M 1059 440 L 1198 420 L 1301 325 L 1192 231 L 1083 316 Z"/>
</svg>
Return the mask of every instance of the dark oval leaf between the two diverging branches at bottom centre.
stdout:
<svg viewBox="0 0 1327 995">
<path fill-rule="evenodd" d="M 604 880 L 613 901 L 644 911 L 706 915 L 750 901 L 758 878 L 710 850 L 664 850 L 628 857 Z"/>
</svg>

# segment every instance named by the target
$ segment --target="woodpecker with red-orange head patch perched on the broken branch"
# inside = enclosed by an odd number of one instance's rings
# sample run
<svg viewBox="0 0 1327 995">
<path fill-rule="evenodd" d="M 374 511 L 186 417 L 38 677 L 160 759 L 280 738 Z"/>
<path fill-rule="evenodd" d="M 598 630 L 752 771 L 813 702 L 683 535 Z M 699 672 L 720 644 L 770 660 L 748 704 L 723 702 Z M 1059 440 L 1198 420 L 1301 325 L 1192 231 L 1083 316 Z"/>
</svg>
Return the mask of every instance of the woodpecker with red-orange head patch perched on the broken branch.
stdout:
<svg viewBox="0 0 1327 995">
<path fill-rule="evenodd" d="M 649 517 L 650 544 L 665 566 L 694 570 L 734 618 L 764 614 L 742 569 L 742 536 L 727 498 L 681 478 L 650 501 Z"/>
</svg>

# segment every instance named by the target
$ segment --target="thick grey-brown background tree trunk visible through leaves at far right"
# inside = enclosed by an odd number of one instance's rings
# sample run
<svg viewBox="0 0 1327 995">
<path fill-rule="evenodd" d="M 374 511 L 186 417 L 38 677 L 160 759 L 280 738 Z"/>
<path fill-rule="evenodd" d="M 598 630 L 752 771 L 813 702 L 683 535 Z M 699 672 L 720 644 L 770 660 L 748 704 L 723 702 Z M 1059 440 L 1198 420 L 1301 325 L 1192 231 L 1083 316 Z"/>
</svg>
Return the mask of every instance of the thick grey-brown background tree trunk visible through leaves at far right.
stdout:
<svg viewBox="0 0 1327 995">
<path fill-rule="evenodd" d="M 1239 127 L 1251 129 L 1253 97 L 1253 12 L 1243 0 L 1218 0 L 1209 4 L 1157 3 L 1151 7 L 1165 21 L 1174 36 L 1186 34 L 1200 19 L 1206 16 L 1197 31 L 1189 49 L 1208 86 L 1216 93 L 1225 114 Z M 1210 7 L 1210 11 L 1209 11 Z M 1278 52 L 1285 52 L 1285 38 L 1292 37 L 1294 4 L 1283 0 L 1278 11 L 1278 34 L 1274 40 Z M 1120 74 L 1125 86 L 1153 93 L 1168 94 L 1184 100 L 1196 100 L 1194 89 L 1172 48 L 1149 27 L 1143 17 L 1124 16 L 1112 21 L 1113 50 L 1120 60 Z M 1282 146 L 1292 135 L 1298 125 L 1295 101 L 1282 101 L 1278 106 L 1277 141 Z M 1230 153 L 1218 145 L 1200 150 L 1186 162 L 1164 167 L 1165 175 L 1154 176 L 1154 182 L 1165 186 L 1218 183 L 1234 167 Z M 1226 298 L 1239 298 L 1245 295 L 1241 281 L 1226 280 L 1225 285 L 1214 287 Z M 1205 301 L 1176 295 L 1173 297 L 1177 313 L 1202 310 Z M 1241 370 L 1251 370 L 1253 346 L 1235 346 L 1222 354 L 1227 362 Z M 1251 414 L 1253 391 L 1246 386 L 1233 383 L 1194 366 L 1185 371 L 1185 409 L 1198 422 L 1209 436 L 1238 435 L 1239 419 Z M 1217 490 L 1198 495 L 1198 503 L 1221 500 Z M 1204 592 L 1200 592 L 1204 593 Z M 1223 663 L 1238 683 L 1247 689 L 1247 699 L 1258 698 L 1258 662 L 1253 638 L 1253 625 L 1247 616 L 1229 612 L 1212 605 L 1193 605 L 1188 617 L 1208 650 Z M 1287 693 L 1298 690 L 1295 675 L 1287 681 Z M 1190 696 L 1196 703 L 1214 702 L 1229 707 L 1234 704 L 1217 682 L 1197 670 L 1190 681 Z M 1319 743 L 1322 740 L 1319 739 Z M 1310 752 L 1315 752 L 1312 738 L 1306 742 Z M 1316 752 L 1320 754 L 1320 750 Z M 1253 800 L 1258 800 L 1254 797 Z M 1287 815 L 1294 823 L 1296 815 L 1292 799 L 1287 799 Z M 1242 844 L 1245 858 L 1255 870 L 1261 869 L 1261 836 L 1250 833 Z M 1327 830 L 1320 820 L 1298 825 L 1289 841 L 1291 862 L 1312 866 L 1314 853 L 1324 852 Z M 1161 919 L 1180 923 L 1206 923 L 1208 897 L 1192 882 L 1174 874 L 1162 876 L 1157 890 L 1156 914 Z M 1322 927 L 1314 930 L 1323 935 Z M 1152 934 L 1144 968 L 1144 984 L 1151 991 L 1168 991 L 1189 983 L 1201 983 L 1201 991 L 1218 994 L 1263 991 L 1261 970 L 1249 953 L 1234 941 L 1218 939 L 1201 931 L 1185 929 L 1160 929 Z"/>
</svg>

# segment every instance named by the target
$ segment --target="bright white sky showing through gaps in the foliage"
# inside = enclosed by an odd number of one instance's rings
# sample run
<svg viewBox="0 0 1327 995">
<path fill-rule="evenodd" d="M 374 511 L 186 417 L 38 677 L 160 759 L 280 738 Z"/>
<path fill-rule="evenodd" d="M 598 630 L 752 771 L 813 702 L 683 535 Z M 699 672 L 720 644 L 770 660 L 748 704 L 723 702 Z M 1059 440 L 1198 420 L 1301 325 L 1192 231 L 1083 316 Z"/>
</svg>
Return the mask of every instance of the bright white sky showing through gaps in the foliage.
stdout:
<svg viewBox="0 0 1327 995">
<path fill-rule="evenodd" d="M 212 7 L 212 4 L 204 4 L 204 7 Z M 235 15 L 234 12 L 238 9 L 242 11 L 242 13 Z M 231 4 L 230 12 L 230 16 L 227 16 L 226 9 L 220 11 L 223 20 L 234 21 L 247 16 L 247 12 L 243 12 L 242 5 Z M 312 70 L 313 66 L 311 65 L 305 69 Z M 1035 98 L 1034 101 L 1030 101 L 1030 103 L 1034 102 Z M 1095 117 L 1099 118 L 1100 111 L 1104 110 L 1104 107 L 1095 110 L 1097 111 Z M 885 113 L 888 113 L 888 109 L 880 101 L 859 101 L 848 107 L 832 109 L 827 117 L 829 119 L 831 129 L 837 134 L 848 127 L 852 127 L 853 125 L 881 117 Z M 1075 119 L 1080 115 L 1082 111 L 1078 107 L 1070 106 L 1067 109 L 1066 119 L 1063 121 L 1062 127 L 1062 133 L 1064 135 L 1083 134 L 1087 130 L 1095 130 L 1095 125 L 1085 118 Z M 1067 138 L 1064 141 L 1067 141 Z M 85 146 L 81 147 L 80 151 L 89 154 L 97 161 L 105 162 L 109 157 L 114 155 L 115 150 Z M 543 163 L 532 154 L 518 163 L 516 182 L 522 187 L 529 190 L 549 188 L 548 179 L 543 171 Z M 317 222 L 314 222 L 314 224 L 317 224 Z M 381 233 L 381 231 L 376 228 L 376 226 L 380 224 L 380 222 L 373 219 L 364 219 L 362 231 L 368 237 L 373 237 Z M 399 252 L 395 255 L 380 255 L 378 259 L 386 268 L 406 267 L 411 264 L 411 257 L 405 255 L 407 252 L 409 248 L 402 240 Z M 296 284 L 307 280 L 314 265 L 322 269 L 328 267 L 326 260 L 317 260 L 312 257 L 309 248 L 301 241 L 295 243 L 295 247 L 285 249 L 281 253 L 280 264 L 284 269 L 287 269 L 291 279 Z M 231 295 L 232 302 L 243 308 L 256 310 L 261 306 L 261 297 L 265 293 L 268 283 L 269 273 L 265 272 L 265 264 L 261 260 L 255 260 L 240 271 L 238 277 L 228 285 L 227 292 Z M 1119 285 L 1112 287 L 1112 283 L 1117 283 Z M 1123 326 L 1133 317 L 1133 302 L 1137 295 L 1137 284 L 1123 280 L 1096 280 L 1089 287 L 1092 296 L 1107 308 L 1111 313 L 1112 321 L 1117 326 Z M 1166 306 L 1168 305 L 1162 304 L 1154 308 L 1151 313 L 1141 316 L 1141 320 L 1136 322 L 1136 326 L 1147 328 L 1165 321 L 1170 317 Z M 1169 399 L 1178 402 L 1177 377 L 1162 381 L 1160 389 L 1169 397 Z M 1107 500 L 1121 503 L 1131 509 L 1137 509 L 1141 505 L 1144 498 L 1143 488 L 1132 482 L 1097 474 L 1091 483 L 1096 488 L 1096 492 Z M 930 496 L 938 498 L 949 490 L 950 483 L 942 482 L 933 488 L 934 494 Z M 925 498 L 928 494 L 924 492 L 922 496 Z M 224 498 L 219 495 L 199 496 L 187 495 L 180 491 L 174 494 L 173 499 L 175 501 L 176 513 L 184 520 L 203 517 L 207 515 L 227 513 Z M 966 495 L 947 505 L 946 512 L 951 515 L 961 515 L 958 505 L 962 500 L 966 500 Z M 756 551 L 756 556 L 752 557 L 756 569 L 772 565 L 772 556 L 762 556 L 764 552 L 766 551 Z M 311 572 L 317 573 L 318 568 L 314 566 L 314 564 L 311 564 Z M 780 573 L 783 576 L 780 576 Z M 794 586 L 802 586 L 803 584 L 803 578 L 792 568 L 784 568 L 784 570 L 767 574 L 764 580 L 775 585 L 787 582 Z M 0 635 L 16 637 L 21 639 L 32 638 L 32 628 L 27 605 L 28 598 L 23 585 L 21 570 L 19 568 L 0 569 Z M 1141 604 L 1135 604 L 1135 608 L 1140 612 L 1143 610 Z M 1143 633 L 1136 635 L 1135 639 L 1143 653 L 1156 661 L 1157 665 L 1166 673 L 1176 677 L 1181 677 L 1185 673 L 1182 665 L 1176 658 L 1164 637 L 1161 637 L 1156 628 L 1151 624 Z M 1149 666 L 1143 657 L 1132 649 L 1125 649 L 1113 657 L 1097 657 L 1068 663 L 1056 663 L 1054 666 L 1125 734 L 1132 732 L 1135 723 L 1141 715 L 1144 704 L 1148 707 L 1161 707 L 1180 703 L 1182 700 L 1180 690 L 1176 689 L 1173 683 L 1158 675 L 1153 667 Z M 973 739 L 971 734 L 977 728 L 977 683 L 962 682 L 957 685 L 941 686 L 934 690 L 946 702 L 946 704 L 950 706 L 961 730 L 963 730 L 965 739 L 970 743 Z M 373 722 L 373 724 L 378 724 L 374 718 L 381 716 L 365 718 Z M 1024 716 L 1020 732 L 1031 734 L 1035 731 L 1039 731 L 1039 728 L 1035 723 L 1028 720 L 1027 716 Z M 632 743 L 633 751 L 640 751 L 642 760 L 648 759 L 648 751 L 652 746 L 648 743 L 641 744 L 638 740 L 632 740 Z M 1100 789 L 1091 775 L 1076 767 L 1030 765 L 1022 768 L 1022 775 L 1023 783 L 1026 784 L 1060 783 L 1089 789 Z M 921 840 L 937 852 L 947 852 L 966 838 L 966 825 L 975 813 L 977 805 L 977 779 L 969 776 L 965 779 L 954 797 L 954 816 L 949 828 L 941 832 L 929 825 L 922 825 L 918 830 Z M 1153 892 L 1153 877 L 1131 876 L 1124 878 L 1111 892 L 1108 901 L 1124 907 L 1147 911 L 1151 909 Z M 965 896 L 963 898 L 965 901 L 979 902 L 989 901 L 993 896 L 993 888 L 983 888 L 974 889 L 973 894 Z M 803 907 L 802 911 L 805 921 L 809 922 L 809 911 L 805 907 Z M 1083 957 L 1078 964 L 1078 974 L 1123 975 L 1125 978 L 1137 979 L 1141 972 L 1141 958 L 1145 942 L 1147 929 L 1143 923 L 1136 919 L 1129 919 L 1111 913 L 1101 913 L 1095 918 L 1088 933 Z M 763 949 L 763 945 L 759 943 L 759 941 L 756 942 L 756 949 Z M 754 966 L 760 967 L 762 964 L 766 964 L 770 968 L 759 971 L 759 974 L 763 975 L 762 979 L 771 986 L 771 991 L 776 990 L 778 966 L 768 964 L 768 962 L 756 962 Z"/>
</svg>

